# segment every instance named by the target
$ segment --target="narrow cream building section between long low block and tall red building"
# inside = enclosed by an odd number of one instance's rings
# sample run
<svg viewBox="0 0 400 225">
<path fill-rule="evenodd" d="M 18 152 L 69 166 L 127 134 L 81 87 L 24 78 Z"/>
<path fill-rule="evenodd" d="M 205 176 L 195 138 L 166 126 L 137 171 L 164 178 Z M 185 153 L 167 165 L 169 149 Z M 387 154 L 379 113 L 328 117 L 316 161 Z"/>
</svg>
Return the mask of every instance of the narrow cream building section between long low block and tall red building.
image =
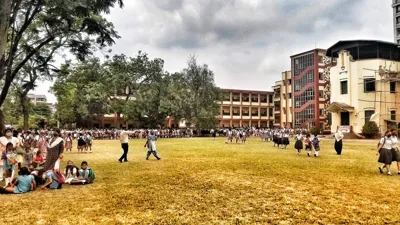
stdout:
<svg viewBox="0 0 400 225">
<path fill-rule="evenodd" d="M 274 89 L 274 127 L 293 127 L 292 114 L 292 75 L 282 73 L 282 79 L 275 82 Z"/>
</svg>

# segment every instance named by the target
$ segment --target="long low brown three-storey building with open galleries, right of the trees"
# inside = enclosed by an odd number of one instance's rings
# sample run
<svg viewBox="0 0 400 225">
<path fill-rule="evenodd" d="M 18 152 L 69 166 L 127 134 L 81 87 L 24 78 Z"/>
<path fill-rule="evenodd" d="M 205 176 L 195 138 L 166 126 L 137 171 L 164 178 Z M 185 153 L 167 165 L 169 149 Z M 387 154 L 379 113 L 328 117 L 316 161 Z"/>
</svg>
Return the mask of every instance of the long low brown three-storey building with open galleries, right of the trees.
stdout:
<svg viewBox="0 0 400 225">
<path fill-rule="evenodd" d="M 224 89 L 220 127 L 272 127 L 273 92 Z"/>
</svg>

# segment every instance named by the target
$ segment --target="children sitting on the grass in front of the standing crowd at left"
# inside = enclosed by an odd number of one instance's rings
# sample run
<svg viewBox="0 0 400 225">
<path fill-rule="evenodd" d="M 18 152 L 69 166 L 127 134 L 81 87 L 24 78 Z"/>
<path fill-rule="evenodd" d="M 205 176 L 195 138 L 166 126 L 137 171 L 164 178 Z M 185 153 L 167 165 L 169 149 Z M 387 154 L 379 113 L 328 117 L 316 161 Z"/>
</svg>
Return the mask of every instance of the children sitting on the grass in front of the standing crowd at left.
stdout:
<svg viewBox="0 0 400 225">
<path fill-rule="evenodd" d="M 13 177 L 15 162 L 3 163 L 4 173 Z M 72 161 L 68 161 L 64 173 L 59 170 L 44 171 L 37 169 L 34 165 L 19 169 L 18 176 L 13 178 L 5 187 L 0 187 L 0 194 L 22 194 L 34 191 L 37 187 L 42 189 L 61 189 L 62 185 L 91 184 L 95 179 L 95 174 L 88 163 L 83 161 L 81 168 L 78 169 Z"/>
</svg>

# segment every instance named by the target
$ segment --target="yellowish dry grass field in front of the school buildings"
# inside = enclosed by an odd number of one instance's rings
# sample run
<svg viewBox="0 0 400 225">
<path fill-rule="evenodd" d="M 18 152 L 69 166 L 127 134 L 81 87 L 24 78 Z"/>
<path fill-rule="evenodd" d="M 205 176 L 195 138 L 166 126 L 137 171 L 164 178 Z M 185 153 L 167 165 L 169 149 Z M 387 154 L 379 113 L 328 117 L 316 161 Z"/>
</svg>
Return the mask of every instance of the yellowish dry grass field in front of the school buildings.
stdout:
<svg viewBox="0 0 400 225">
<path fill-rule="evenodd" d="M 250 139 L 159 140 L 162 158 L 145 160 L 131 141 L 95 141 L 92 185 L 0 196 L 0 224 L 400 224 L 400 176 L 378 173 L 376 141 L 344 141 L 337 156 L 322 141 L 319 158 Z M 393 168 L 393 172 L 396 169 Z"/>
</svg>

